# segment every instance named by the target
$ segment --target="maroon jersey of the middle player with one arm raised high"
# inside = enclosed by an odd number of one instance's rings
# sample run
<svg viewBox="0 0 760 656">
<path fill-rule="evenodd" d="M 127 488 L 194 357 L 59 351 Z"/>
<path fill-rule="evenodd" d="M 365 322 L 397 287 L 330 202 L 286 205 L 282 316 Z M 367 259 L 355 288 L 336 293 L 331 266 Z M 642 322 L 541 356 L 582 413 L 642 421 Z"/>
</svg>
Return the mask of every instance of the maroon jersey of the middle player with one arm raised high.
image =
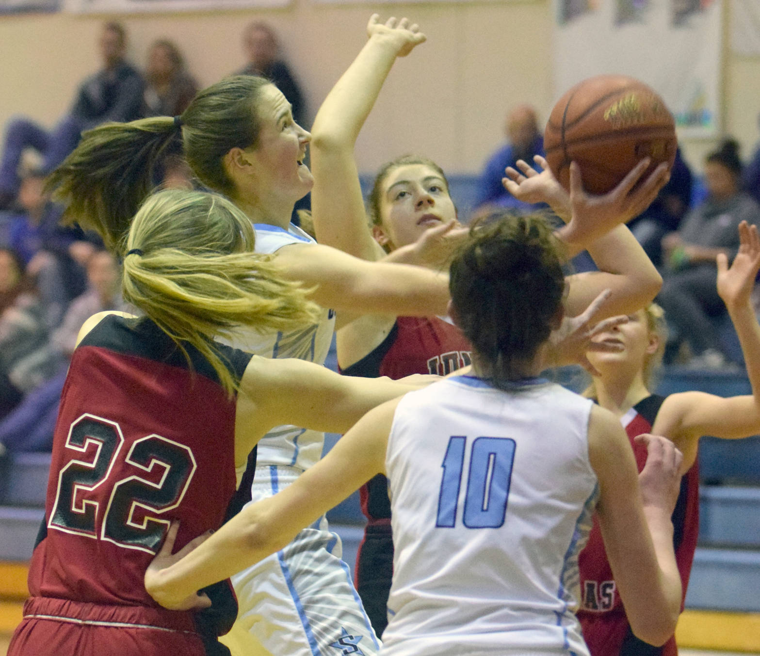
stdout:
<svg viewBox="0 0 760 656">
<path fill-rule="evenodd" d="M 388 337 L 372 353 L 342 369 L 344 376 L 397 380 L 415 373 L 447 374 L 470 364 L 470 342 L 459 328 L 438 317 L 397 317 Z M 378 474 L 359 490 L 369 522 L 390 524 L 388 480 Z"/>
</svg>

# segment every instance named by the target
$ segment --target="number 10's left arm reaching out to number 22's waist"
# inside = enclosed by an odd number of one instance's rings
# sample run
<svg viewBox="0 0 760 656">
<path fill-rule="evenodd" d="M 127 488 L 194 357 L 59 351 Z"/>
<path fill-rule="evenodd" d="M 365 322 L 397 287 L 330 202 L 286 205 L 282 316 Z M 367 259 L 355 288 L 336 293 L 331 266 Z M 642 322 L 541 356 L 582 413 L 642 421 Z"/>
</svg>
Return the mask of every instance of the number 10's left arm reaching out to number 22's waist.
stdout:
<svg viewBox="0 0 760 656">
<path fill-rule="evenodd" d="M 285 547 L 298 531 L 384 471 L 396 404 L 369 412 L 295 483 L 246 506 L 195 550 L 176 558 L 169 555 L 171 545 L 165 545 L 145 572 L 148 594 L 166 608 L 187 607 L 199 589 Z M 202 598 L 201 605 L 207 605 Z"/>
</svg>

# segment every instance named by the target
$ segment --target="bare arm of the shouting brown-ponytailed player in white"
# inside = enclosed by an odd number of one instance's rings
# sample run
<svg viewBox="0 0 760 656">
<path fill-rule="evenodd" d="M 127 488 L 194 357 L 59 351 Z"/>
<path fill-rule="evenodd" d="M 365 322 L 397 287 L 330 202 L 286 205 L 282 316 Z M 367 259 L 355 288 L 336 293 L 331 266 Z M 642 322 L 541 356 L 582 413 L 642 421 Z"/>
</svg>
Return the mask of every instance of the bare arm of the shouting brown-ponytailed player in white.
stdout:
<svg viewBox="0 0 760 656">
<path fill-rule="evenodd" d="M 282 276 L 313 288 L 322 307 L 355 314 L 445 315 L 448 274 L 412 265 L 368 262 L 330 246 L 284 246 L 274 255 Z"/>
</svg>

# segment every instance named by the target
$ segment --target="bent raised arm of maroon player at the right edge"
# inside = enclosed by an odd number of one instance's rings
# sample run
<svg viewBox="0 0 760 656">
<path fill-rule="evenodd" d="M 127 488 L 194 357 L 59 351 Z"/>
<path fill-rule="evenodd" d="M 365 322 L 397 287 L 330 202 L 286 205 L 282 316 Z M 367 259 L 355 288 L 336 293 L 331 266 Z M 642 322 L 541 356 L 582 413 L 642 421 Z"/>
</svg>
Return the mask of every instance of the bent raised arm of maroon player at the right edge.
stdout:
<svg viewBox="0 0 760 656">
<path fill-rule="evenodd" d="M 663 401 L 653 430 L 668 436 L 691 467 L 699 438 L 739 439 L 760 433 L 760 325 L 752 308 L 752 289 L 760 271 L 760 236 L 755 226 L 739 224 L 739 252 L 728 266 L 717 256 L 717 290 L 742 346 L 752 395 L 723 398 L 700 391 L 670 395 Z"/>
</svg>

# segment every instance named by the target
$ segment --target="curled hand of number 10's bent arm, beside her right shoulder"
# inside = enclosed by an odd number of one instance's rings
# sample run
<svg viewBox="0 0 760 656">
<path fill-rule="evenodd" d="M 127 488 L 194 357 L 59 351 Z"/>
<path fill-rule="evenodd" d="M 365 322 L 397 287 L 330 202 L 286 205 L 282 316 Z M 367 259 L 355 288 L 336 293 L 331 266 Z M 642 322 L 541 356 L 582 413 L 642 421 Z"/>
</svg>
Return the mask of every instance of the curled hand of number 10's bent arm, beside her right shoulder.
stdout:
<svg viewBox="0 0 760 656">
<path fill-rule="evenodd" d="M 647 463 L 638 474 L 644 508 L 656 507 L 670 516 L 681 490 L 683 454 L 670 439 L 658 435 L 643 433 L 635 441 L 647 446 Z"/>
</svg>

